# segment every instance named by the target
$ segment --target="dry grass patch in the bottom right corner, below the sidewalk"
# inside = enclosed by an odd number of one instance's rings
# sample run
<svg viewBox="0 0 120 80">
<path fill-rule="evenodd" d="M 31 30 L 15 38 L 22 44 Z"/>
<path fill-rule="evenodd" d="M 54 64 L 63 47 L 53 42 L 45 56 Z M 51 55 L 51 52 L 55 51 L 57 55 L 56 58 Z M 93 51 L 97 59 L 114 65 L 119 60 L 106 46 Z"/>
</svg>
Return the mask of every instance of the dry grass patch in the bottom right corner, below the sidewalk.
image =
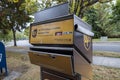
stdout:
<svg viewBox="0 0 120 80">
<path fill-rule="evenodd" d="M 93 80 L 120 80 L 120 68 L 93 65 Z"/>
</svg>

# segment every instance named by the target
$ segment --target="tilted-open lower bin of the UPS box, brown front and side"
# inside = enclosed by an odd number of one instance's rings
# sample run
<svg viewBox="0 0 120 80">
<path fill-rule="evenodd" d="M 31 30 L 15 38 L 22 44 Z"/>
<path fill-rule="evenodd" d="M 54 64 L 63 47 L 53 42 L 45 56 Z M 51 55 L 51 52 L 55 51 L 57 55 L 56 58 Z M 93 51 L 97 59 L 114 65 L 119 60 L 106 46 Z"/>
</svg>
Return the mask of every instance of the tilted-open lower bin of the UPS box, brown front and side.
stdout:
<svg viewBox="0 0 120 80">
<path fill-rule="evenodd" d="M 61 52 L 63 53 L 61 54 Z M 75 74 L 80 74 L 83 78 L 92 80 L 91 65 L 73 48 L 67 48 L 67 50 L 59 50 L 58 48 L 58 53 L 32 50 L 29 51 L 29 57 L 31 63 L 41 67 L 45 67 L 73 77 Z"/>
</svg>

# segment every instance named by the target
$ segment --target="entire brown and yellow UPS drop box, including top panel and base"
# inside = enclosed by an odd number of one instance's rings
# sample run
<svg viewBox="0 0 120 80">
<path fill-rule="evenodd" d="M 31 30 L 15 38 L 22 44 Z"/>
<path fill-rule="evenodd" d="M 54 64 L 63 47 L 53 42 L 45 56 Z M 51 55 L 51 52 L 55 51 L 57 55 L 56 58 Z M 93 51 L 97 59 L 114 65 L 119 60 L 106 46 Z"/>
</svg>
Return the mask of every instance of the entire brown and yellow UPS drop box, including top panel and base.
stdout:
<svg viewBox="0 0 120 80">
<path fill-rule="evenodd" d="M 92 80 L 92 27 L 65 10 L 68 3 L 35 14 L 30 62 L 41 67 L 42 80 Z"/>
</svg>

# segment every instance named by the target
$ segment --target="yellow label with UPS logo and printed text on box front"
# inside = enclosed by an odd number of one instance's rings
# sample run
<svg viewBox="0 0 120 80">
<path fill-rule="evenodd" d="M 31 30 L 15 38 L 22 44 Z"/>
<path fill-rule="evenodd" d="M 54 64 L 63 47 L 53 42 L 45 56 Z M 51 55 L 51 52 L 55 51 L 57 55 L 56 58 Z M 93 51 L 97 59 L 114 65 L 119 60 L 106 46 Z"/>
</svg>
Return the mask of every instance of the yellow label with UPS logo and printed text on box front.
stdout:
<svg viewBox="0 0 120 80">
<path fill-rule="evenodd" d="M 73 44 L 73 19 L 31 27 L 32 44 Z"/>
</svg>

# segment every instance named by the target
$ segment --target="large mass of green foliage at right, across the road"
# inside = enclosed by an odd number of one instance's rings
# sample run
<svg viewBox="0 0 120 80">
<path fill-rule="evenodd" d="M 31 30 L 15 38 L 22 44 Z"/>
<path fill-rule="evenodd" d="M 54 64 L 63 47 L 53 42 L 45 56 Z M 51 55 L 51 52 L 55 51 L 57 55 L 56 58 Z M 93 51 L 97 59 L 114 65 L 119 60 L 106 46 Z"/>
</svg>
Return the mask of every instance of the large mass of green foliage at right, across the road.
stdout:
<svg viewBox="0 0 120 80">
<path fill-rule="evenodd" d="M 117 8 L 116 8 L 117 5 Z M 120 35 L 120 13 L 118 2 L 97 3 L 86 9 L 84 20 L 93 27 L 95 37 L 109 36 L 119 37 Z"/>
</svg>

